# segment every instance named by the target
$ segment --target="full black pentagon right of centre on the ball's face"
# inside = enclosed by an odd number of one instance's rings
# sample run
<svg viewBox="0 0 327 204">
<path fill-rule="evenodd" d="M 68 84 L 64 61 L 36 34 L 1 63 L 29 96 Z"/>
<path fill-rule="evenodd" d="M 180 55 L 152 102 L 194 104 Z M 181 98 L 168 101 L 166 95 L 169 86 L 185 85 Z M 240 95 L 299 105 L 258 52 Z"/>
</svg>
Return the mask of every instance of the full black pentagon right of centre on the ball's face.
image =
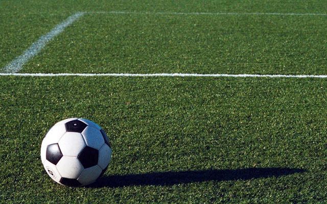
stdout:
<svg viewBox="0 0 327 204">
<path fill-rule="evenodd" d="M 83 167 L 86 169 L 98 164 L 99 151 L 98 149 L 86 146 L 77 158 L 80 160 Z"/>
</svg>

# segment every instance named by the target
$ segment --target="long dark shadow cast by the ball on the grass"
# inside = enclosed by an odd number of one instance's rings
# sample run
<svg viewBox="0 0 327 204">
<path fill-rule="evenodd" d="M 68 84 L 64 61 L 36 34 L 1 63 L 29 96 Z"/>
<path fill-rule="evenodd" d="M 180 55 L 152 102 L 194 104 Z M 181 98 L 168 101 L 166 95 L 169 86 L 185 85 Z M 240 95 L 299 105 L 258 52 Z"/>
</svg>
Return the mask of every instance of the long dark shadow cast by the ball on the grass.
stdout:
<svg viewBox="0 0 327 204">
<path fill-rule="evenodd" d="M 145 174 L 102 176 L 90 188 L 124 187 L 124 186 L 172 186 L 205 181 L 251 180 L 266 177 L 279 177 L 293 173 L 305 172 L 298 168 L 247 168 L 202 171 L 172 171 Z"/>
</svg>

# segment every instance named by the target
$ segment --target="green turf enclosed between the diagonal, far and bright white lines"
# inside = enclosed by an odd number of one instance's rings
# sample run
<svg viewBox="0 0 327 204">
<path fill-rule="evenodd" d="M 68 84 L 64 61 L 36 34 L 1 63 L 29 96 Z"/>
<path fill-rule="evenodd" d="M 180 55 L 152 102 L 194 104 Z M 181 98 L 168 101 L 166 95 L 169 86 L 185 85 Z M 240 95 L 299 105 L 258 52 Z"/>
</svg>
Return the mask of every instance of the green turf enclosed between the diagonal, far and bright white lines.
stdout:
<svg viewBox="0 0 327 204">
<path fill-rule="evenodd" d="M 22 72 L 324 74 L 326 19 L 89 13 Z"/>
</svg>

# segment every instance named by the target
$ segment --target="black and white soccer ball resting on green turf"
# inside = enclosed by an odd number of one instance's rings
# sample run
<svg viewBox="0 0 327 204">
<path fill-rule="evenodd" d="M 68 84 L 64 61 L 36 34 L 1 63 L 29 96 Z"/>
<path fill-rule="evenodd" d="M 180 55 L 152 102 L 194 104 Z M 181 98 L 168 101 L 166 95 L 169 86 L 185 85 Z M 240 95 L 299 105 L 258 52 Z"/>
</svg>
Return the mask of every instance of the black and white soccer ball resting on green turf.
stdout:
<svg viewBox="0 0 327 204">
<path fill-rule="evenodd" d="M 98 124 L 83 118 L 57 122 L 41 144 L 45 171 L 64 186 L 85 186 L 97 181 L 110 159 L 107 135 Z"/>
</svg>

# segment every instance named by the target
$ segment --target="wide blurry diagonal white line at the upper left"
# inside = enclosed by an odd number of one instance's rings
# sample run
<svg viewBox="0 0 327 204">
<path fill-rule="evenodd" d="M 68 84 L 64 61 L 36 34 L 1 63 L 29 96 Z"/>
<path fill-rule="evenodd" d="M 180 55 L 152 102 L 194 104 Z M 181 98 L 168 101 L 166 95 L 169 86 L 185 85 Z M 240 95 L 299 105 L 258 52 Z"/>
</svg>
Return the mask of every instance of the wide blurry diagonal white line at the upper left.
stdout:
<svg viewBox="0 0 327 204">
<path fill-rule="evenodd" d="M 75 20 L 79 19 L 85 12 L 79 12 L 72 16 L 69 16 L 66 20 L 57 24 L 54 29 L 49 33 L 41 36 L 37 41 L 35 41 L 25 52 L 14 59 L 12 62 L 7 64 L 1 72 L 14 73 L 21 69 L 25 63 L 27 63 L 31 58 L 35 57 L 46 44 L 48 44 L 54 37 L 59 35 L 68 25 L 72 24 Z"/>
</svg>

